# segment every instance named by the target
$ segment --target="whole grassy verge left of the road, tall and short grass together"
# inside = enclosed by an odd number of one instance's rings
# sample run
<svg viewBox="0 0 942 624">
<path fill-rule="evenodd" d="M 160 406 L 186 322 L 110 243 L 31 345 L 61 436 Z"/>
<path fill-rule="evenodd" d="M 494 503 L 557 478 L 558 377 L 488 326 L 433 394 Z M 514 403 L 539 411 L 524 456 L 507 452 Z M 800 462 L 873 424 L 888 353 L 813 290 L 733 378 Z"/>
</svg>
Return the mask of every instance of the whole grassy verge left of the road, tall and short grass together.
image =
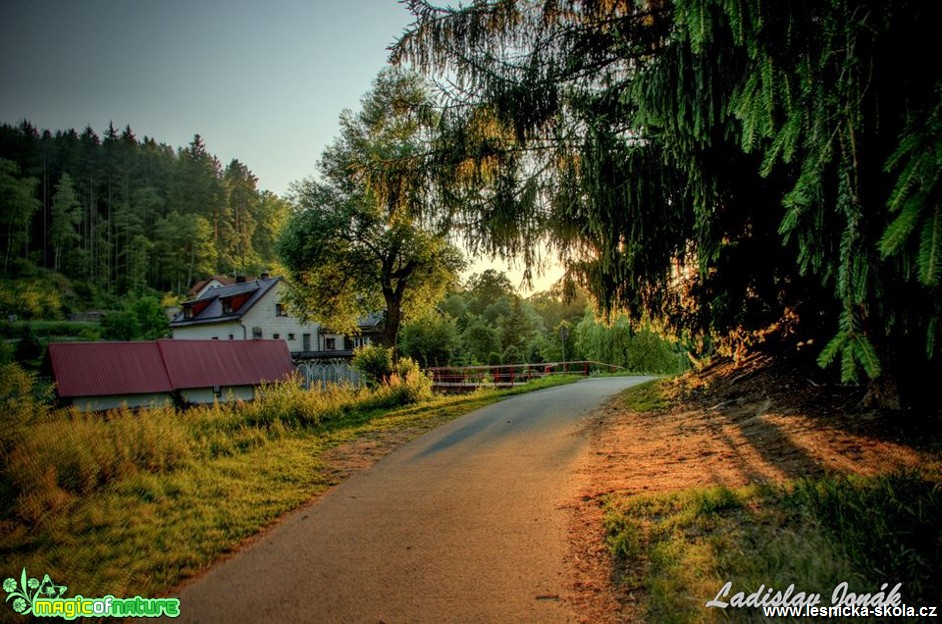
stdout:
<svg viewBox="0 0 942 624">
<path fill-rule="evenodd" d="M 101 416 L 31 404 L 17 378 L 0 384 L 0 403 L 18 406 L 0 438 L 0 577 L 25 567 L 70 595 L 165 594 L 332 485 L 324 454 L 337 445 L 384 431 L 415 437 L 509 394 L 572 380 L 398 408 L 389 403 L 410 403 L 408 388 L 286 385 L 242 405 Z M 7 617 L 16 615 L 0 609 Z"/>
</svg>

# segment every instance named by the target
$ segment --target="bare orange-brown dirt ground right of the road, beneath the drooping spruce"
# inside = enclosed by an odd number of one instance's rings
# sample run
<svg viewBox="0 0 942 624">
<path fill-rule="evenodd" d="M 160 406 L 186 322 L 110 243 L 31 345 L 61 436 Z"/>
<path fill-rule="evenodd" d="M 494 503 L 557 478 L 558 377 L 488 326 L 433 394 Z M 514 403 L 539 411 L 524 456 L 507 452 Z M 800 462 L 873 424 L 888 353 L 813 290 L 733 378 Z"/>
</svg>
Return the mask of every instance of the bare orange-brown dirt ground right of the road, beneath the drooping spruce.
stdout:
<svg viewBox="0 0 942 624">
<path fill-rule="evenodd" d="M 632 413 L 616 401 L 587 425 L 589 459 L 571 506 L 573 601 L 584 622 L 639 620 L 637 588 L 616 588 L 602 504 L 613 492 L 743 486 L 830 473 L 872 475 L 923 465 L 925 436 L 876 413 L 860 394 L 827 387 L 761 356 L 722 361 L 671 382 L 677 406 Z"/>
</svg>

